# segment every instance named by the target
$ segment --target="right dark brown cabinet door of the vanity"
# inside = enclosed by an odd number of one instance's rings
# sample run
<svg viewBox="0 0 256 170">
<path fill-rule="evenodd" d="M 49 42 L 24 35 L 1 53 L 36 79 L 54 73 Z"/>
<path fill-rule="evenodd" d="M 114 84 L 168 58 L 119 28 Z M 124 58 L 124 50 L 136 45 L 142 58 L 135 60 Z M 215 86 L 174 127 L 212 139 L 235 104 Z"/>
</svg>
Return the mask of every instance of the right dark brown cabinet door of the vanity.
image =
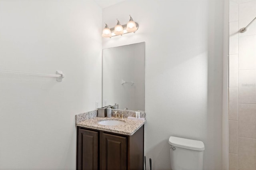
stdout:
<svg viewBox="0 0 256 170">
<path fill-rule="evenodd" d="M 102 169 L 126 170 L 126 137 L 102 133 Z"/>
</svg>

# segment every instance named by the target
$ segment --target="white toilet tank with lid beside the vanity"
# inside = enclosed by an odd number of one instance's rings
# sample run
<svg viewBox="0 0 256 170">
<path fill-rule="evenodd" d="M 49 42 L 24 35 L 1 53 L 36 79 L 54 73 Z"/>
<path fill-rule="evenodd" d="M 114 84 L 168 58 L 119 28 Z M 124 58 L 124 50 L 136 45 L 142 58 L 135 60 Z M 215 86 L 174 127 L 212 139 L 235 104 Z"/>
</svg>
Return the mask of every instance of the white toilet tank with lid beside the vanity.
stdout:
<svg viewBox="0 0 256 170">
<path fill-rule="evenodd" d="M 170 136 L 172 170 L 202 170 L 204 157 L 204 143 Z"/>
</svg>

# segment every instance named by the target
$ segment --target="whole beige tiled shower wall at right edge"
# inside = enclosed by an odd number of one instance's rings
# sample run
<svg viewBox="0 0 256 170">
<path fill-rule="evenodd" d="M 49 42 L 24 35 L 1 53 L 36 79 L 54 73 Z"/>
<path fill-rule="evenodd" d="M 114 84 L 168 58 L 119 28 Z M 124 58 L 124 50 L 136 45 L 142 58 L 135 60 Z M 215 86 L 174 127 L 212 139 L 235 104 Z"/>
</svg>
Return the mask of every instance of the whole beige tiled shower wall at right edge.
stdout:
<svg viewBox="0 0 256 170">
<path fill-rule="evenodd" d="M 256 170 L 256 0 L 230 0 L 229 170 Z"/>
</svg>

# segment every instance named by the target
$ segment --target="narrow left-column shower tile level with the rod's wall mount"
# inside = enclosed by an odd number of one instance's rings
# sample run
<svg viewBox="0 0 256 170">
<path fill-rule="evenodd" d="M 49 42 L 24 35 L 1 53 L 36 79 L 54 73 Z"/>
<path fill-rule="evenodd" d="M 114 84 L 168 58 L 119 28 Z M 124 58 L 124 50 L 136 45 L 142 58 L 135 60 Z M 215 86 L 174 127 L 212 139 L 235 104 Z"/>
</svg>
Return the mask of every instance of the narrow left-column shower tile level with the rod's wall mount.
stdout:
<svg viewBox="0 0 256 170">
<path fill-rule="evenodd" d="M 229 54 L 238 53 L 238 22 L 229 23 Z"/>
</svg>

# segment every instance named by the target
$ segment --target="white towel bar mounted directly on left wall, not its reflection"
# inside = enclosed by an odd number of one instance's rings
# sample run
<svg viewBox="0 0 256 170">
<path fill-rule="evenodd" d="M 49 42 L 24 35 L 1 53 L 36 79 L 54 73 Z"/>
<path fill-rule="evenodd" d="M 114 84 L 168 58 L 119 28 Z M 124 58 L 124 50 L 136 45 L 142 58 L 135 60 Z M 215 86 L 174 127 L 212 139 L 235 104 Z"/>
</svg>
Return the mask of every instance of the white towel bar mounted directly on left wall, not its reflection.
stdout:
<svg viewBox="0 0 256 170">
<path fill-rule="evenodd" d="M 45 76 L 45 77 L 56 77 L 56 81 L 62 81 L 64 78 L 64 74 L 62 71 L 56 71 L 56 74 L 43 74 L 43 73 L 31 73 L 25 71 L 13 71 L 13 70 L 1 70 L 0 73 L 11 73 L 11 74 L 23 74 L 23 75 L 37 75 L 37 76 Z"/>
</svg>

